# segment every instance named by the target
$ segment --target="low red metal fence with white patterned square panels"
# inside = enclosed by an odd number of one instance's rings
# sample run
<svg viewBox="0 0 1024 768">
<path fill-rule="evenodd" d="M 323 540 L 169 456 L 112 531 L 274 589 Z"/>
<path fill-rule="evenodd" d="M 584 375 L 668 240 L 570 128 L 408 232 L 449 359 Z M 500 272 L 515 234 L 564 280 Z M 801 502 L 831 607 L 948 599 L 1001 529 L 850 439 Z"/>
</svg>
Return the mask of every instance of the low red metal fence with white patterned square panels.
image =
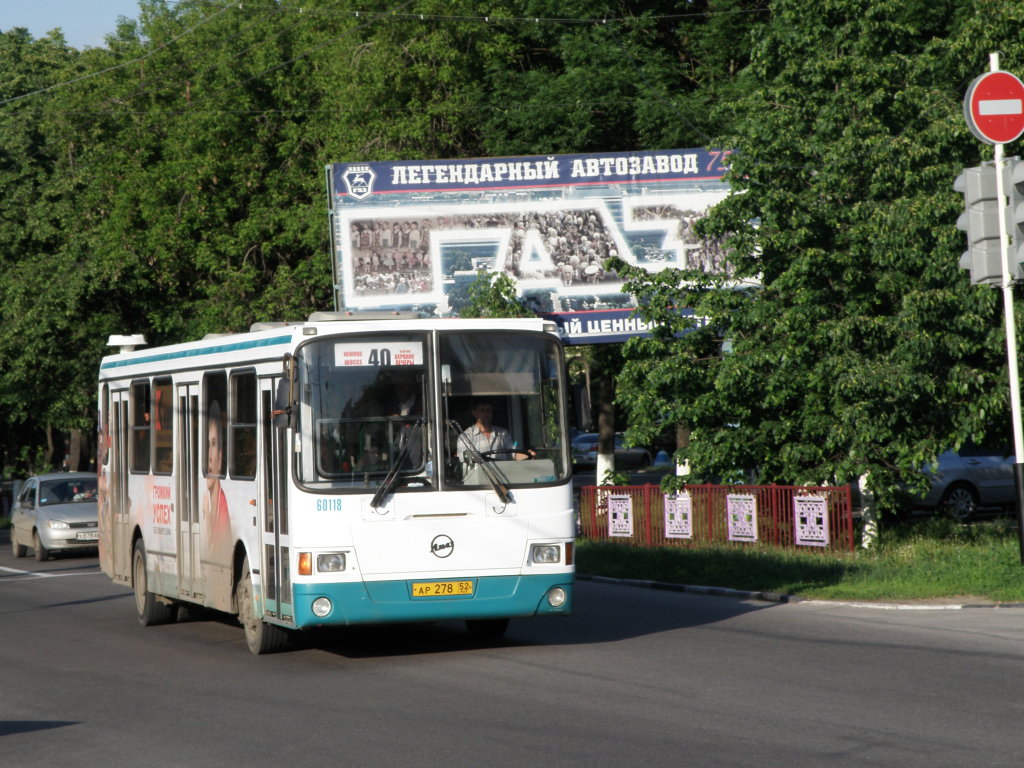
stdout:
<svg viewBox="0 0 1024 768">
<path fill-rule="evenodd" d="M 755 543 L 851 552 L 855 538 L 849 486 L 807 485 L 687 485 L 677 497 L 658 485 L 584 486 L 580 531 L 639 547 Z"/>
</svg>

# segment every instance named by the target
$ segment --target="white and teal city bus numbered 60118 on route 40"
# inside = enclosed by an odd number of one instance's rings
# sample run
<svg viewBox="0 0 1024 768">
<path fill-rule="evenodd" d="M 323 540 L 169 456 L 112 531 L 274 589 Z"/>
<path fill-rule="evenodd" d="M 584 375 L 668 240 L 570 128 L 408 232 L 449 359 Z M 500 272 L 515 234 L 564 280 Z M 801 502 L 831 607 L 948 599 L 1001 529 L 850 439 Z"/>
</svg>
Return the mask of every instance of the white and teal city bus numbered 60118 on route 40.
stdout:
<svg viewBox="0 0 1024 768">
<path fill-rule="evenodd" d="M 122 346 L 99 368 L 100 566 L 143 626 L 206 606 L 257 654 L 322 627 L 568 615 L 564 370 L 539 318 L 315 312 Z"/>
</svg>

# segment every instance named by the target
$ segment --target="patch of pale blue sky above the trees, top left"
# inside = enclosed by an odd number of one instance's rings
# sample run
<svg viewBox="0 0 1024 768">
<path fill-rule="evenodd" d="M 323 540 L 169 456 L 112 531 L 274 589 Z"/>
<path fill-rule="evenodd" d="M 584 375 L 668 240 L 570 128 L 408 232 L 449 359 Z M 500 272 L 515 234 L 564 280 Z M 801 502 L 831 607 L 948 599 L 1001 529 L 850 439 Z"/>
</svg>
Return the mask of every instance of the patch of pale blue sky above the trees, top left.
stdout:
<svg viewBox="0 0 1024 768">
<path fill-rule="evenodd" d="M 25 27 L 35 38 L 55 27 L 68 44 L 82 49 L 103 45 L 118 16 L 138 17 L 138 0 L 0 0 L 0 30 Z"/>
</svg>

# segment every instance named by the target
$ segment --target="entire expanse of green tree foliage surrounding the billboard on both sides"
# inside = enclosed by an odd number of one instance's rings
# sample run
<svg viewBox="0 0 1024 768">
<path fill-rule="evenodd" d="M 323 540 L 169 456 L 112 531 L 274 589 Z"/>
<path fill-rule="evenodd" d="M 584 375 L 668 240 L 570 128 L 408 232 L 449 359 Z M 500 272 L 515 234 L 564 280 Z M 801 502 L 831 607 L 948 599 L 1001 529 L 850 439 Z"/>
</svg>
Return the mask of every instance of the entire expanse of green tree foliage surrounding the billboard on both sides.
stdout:
<svg viewBox="0 0 1024 768">
<path fill-rule="evenodd" d="M 165 343 L 326 308 L 329 163 L 707 145 L 737 150 L 737 194 L 705 225 L 761 288 L 630 273 L 680 332 L 608 364 L 631 436 L 684 425 L 681 458 L 708 476 L 891 485 L 1008 431 L 999 303 L 956 268 L 950 183 L 981 159 L 964 89 L 990 50 L 1024 61 L 1022 13 L 140 0 L 99 48 L 0 33 L 6 447 L 88 427 L 110 334 Z M 480 286 L 469 311 L 519 311 L 507 289 Z M 707 324 L 684 329 L 681 305 Z"/>
</svg>

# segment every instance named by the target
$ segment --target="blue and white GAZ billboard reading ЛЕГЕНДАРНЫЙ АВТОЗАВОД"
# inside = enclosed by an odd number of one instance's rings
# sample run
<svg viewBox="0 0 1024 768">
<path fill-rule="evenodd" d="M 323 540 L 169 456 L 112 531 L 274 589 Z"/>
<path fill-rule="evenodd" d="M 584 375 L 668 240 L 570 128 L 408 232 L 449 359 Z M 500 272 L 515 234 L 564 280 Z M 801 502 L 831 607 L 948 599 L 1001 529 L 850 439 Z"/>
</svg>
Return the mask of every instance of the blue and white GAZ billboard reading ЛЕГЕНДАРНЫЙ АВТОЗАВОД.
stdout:
<svg viewBox="0 0 1024 768">
<path fill-rule="evenodd" d="M 538 313 L 612 312 L 625 323 L 634 304 L 604 266 L 611 256 L 649 271 L 729 273 L 721 244 L 693 231 L 728 194 L 728 155 L 334 163 L 327 183 L 336 308 L 457 313 L 483 269 L 512 278 Z"/>
</svg>

